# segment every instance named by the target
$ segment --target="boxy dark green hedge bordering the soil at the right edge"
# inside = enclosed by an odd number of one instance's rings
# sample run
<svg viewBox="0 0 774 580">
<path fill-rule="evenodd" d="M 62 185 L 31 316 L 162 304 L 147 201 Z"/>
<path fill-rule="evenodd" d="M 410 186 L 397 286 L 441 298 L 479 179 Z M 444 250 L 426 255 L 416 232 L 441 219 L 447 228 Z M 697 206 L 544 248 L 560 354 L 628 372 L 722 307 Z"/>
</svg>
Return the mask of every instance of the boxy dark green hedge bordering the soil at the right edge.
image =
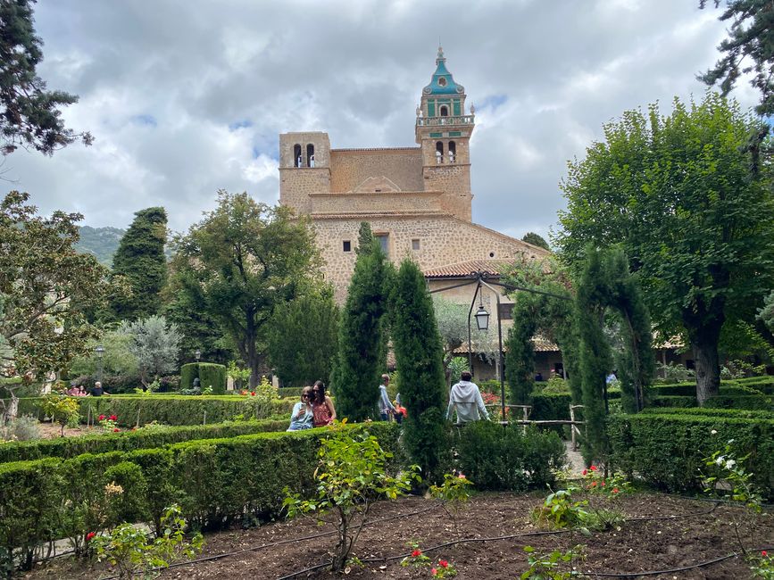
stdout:
<svg viewBox="0 0 774 580">
<path fill-rule="evenodd" d="M 774 419 L 621 414 L 608 418 L 608 434 L 616 468 L 668 491 L 701 489 L 704 458 L 733 439 L 737 458 L 750 454 L 754 483 L 774 498 Z"/>
</svg>

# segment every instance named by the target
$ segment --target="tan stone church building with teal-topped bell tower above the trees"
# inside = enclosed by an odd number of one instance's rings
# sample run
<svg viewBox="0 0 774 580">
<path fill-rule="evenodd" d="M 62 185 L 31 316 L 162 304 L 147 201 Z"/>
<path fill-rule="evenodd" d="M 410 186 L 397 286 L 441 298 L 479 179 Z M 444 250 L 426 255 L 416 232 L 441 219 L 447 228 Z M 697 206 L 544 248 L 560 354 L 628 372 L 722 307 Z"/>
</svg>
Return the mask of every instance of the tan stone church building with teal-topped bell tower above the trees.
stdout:
<svg viewBox="0 0 774 580">
<path fill-rule="evenodd" d="M 279 136 L 279 203 L 311 218 L 325 278 L 339 302 L 354 270 L 362 221 L 370 222 L 391 261 L 410 256 L 425 271 L 547 254 L 471 221 L 475 110 L 465 99 L 439 48 L 416 110 L 416 147 L 332 149 L 323 132 Z"/>
</svg>

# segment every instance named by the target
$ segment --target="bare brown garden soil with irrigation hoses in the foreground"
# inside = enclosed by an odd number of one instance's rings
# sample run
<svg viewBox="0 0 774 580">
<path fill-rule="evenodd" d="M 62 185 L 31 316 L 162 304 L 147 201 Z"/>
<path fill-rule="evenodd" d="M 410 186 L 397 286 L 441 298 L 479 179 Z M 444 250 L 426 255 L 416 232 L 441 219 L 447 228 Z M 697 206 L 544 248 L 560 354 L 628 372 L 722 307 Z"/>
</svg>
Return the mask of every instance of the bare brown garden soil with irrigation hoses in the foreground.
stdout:
<svg viewBox="0 0 774 580">
<path fill-rule="evenodd" d="M 535 526 L 529 512 L 540 505 L 543 494 L 481 493 L 450 516 L 435 501 L 418 497 L 379 503 L 372 512 L 354 553 L 365 562 L 346 574 L 326 569 L 303 573 L 298 578 L 429 578 L 429 568 L 402 568 L 400 559 L 420 547 L 433 558 L 446 559 L 458 569 L 458 578 L 489 580 L 518 578 L 528 568 L 523 548 L 566 551 L 571 545 L 586 545 L 585 561 L 576 564 L 587 577 L 598 574 L 628 575 L 657 570 L 675 570 L 739 551 L 730 522 L 745 518 L 745 510 L 708 501 L 696 501 L 657 493 L 636 493 L 607 501 L 591 498 L 592 508 L 620 510 L 627 520 L 619 528 L 596 532 L 591 537 L 563 532 L 545 534 Z M 753 540 L 757 548 L 774 545 L 774 518 L 757 518 Z M 329 525 L 317 526 L 311 519 L 270 523 L 248 530 L 208 534 L 196 564 L 170 568 L 162 578 L 282 578 L 329 559 L 334 543 Z M 463 541 L 434 549 L 444 543 Z M 748 543 L 749 547 L 749 543 Z M 236 553 L 233 553 L 236 552 Z M 36 568 L 25 578 L 104 578 L 111 570 L 104 565 L 57 559 Z M 751 578 L 740 556 L 711 566 L 646 576 L 662 580 Z"/>
</svg>

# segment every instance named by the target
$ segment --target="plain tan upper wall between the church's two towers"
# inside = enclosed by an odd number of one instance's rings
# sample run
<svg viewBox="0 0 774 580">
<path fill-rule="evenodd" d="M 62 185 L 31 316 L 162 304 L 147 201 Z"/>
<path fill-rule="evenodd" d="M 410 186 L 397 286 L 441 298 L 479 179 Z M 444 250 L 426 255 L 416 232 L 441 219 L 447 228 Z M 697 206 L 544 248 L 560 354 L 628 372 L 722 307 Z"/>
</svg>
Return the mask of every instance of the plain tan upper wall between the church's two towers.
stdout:
<svg viewBox="0 0 774 580">
<path fill-rule="evenodd" d="M 353 191 L 368 178 L 384 176 L 402 191 L 424 191 L 419 147 L 396 149 L 333 149 L 330 191 Z"/>
</svg>

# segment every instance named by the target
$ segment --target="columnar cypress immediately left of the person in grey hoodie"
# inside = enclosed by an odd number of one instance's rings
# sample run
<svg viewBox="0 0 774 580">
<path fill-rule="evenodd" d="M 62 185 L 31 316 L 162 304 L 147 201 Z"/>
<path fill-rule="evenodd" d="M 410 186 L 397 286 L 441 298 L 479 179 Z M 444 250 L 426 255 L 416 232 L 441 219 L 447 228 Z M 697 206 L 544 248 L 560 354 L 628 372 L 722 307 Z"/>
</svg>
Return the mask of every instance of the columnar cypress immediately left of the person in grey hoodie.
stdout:
<svg viewBox="0 0 774 580">
<path fill-rule="evenodd" d="M 446 450 L 443 348 L 425 277 L 410 259 L 398 270 L 390 302 L 401 402 L 408 410 L 404 443 L 422 477 L 437 482 Z"/>
</svg>

